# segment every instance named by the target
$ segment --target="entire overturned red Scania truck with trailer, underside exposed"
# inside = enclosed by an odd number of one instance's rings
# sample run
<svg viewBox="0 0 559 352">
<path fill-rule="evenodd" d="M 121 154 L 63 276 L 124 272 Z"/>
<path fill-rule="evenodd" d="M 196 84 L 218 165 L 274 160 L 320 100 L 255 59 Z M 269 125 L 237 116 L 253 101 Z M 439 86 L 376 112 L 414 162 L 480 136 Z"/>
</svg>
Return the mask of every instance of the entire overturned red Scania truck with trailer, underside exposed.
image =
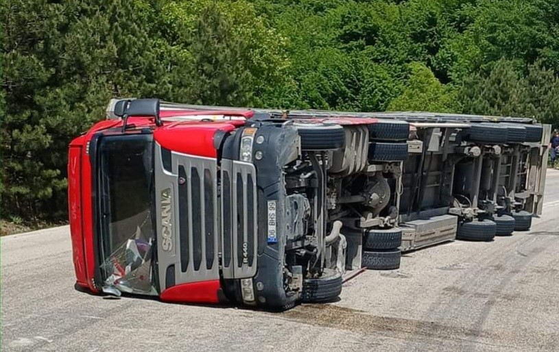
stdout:
<svg viewBox="0 0 559 352">
<path fill-rule="evenodd" d="M 550 127 L 528 118 L 113 101 L 69 147 L 76 288 L 285 310 L 346 270 L 530 228 Z"/>
</svg>

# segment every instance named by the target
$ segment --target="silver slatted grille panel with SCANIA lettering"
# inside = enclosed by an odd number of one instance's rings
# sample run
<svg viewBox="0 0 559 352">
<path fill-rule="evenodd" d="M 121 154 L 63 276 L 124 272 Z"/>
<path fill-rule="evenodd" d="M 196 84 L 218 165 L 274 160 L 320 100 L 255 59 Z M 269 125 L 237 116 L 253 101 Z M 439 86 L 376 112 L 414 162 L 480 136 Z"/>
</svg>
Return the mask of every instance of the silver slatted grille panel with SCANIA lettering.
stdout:
<svg viewBox="0 0 559 352">
<path fill-rule="evenodd" d="M 156 145 L 156 197 L 170 189 L 171 249 L 162 247 L 158 236 L 158 264 L 161 282 L 184 284 L 219 279 L 219 221 L 217 205 L 217 160 L 170 152 L 170 162 L 163 162 Z M 167 155 L 167 158 L 168 155 Z M 156 214 L 162 211 L 156 201 Z M 161 231 L 162 216 L 156 216 Z M 174 269 L 169 270 L 169 266 Z M 167 275 L 174 274 L 174 280 Z M 165 277 L 165 279 L 163 279 Z M 167 286 L 169 284 L 166 284 Z M 172 286 L 172 285 L 171 285 Z"/>
</svg>

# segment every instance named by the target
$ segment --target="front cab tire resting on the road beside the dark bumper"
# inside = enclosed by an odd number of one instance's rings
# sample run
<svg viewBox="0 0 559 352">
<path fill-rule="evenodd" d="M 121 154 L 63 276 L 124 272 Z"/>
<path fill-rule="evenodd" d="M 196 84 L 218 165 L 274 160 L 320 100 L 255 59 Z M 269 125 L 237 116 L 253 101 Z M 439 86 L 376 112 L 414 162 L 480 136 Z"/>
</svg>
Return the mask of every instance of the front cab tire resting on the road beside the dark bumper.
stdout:
<svg viewBox="0 0 559 352">
<path fill-rule="evenodd" d="M 301 301 L 318 303 L 332 301 L 342 293 L 342 275 L 333 269 L 324 269 L 322 277 L 302 281 Z"/>
</svg>

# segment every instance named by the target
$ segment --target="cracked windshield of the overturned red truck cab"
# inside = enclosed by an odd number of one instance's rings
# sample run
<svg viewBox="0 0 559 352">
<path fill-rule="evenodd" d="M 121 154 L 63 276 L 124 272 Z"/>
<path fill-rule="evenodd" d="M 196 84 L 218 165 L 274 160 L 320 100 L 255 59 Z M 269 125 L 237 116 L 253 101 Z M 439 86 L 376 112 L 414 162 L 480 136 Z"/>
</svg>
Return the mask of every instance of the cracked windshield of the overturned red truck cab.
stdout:
<svg viewBox="0 0 559 352">
<path fill-rule="evenodd" d="M 104 284 L 156 294 L 152 280 L 152 134 L 104 136 L 99 142 L 100 248 Z"/>
</svg>

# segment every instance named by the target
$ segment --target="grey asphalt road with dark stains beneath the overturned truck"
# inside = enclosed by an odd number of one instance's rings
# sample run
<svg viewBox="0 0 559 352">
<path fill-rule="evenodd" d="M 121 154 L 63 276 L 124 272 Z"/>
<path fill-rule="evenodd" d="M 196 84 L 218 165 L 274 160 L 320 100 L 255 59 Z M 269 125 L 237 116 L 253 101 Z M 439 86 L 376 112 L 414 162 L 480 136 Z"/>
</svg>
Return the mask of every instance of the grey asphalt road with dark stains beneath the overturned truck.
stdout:
<svg viewBox="0 0 559 352">
<path fill-rule="evenodd" d="M 532 231 L 450 242 L 281 314 L 73 289 L 68 227 L 1 238 L 3 351 L 559 350 L 559 171 Z"/>
</svg>

